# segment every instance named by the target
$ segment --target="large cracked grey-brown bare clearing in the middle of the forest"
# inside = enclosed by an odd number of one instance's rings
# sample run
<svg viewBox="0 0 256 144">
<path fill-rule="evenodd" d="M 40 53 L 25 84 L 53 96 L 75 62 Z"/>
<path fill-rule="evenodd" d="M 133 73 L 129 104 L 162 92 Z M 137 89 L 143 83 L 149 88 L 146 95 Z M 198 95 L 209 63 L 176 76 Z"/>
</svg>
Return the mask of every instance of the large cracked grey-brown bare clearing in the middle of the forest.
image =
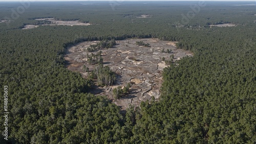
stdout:
<svg viewBox="0 0 256 144">
<path fill-rule="evenodd" d="M 136 45 L 136 41 L 149 43 L 151 47 Z M 82 70 L 82 66 L 86 65 L 90 70 L 93 70 L 95 65 L 90 65 L 87 62 L 87 47 L 97 41 L 82 42 L 77 45 L 68 47 L 68 53 L 65 56 L 67 61 L 66 67 L 72 71 L 77 71 L 84 78 L 88 76 Z M 169 60 L 170 55 L 174 55 L 174 61 L 192 56 L 189 51 L 177 49 L 176 42 L 160 41 L 158 39 L 126 39 L 116 41 L 117 45 L 111 49 L 103 49 L 101 57 L 103 58 L 104 66 L 108 65 L 116 73 L 116 83 L 114 86 L 98 87 L 91 92 L 99 95 L 106 95 L 113 103 L 125 110 L 129 104 L 139 106 L 142 101 L 151 101 L 152 97 L 157 100 L 160 97 L 160 87 L 163 82 L 162 70 L 167 65 L 162 61 Z M 172 53 L 162 53 L 162 49 L 172 50 Z M 97 52 L 94 52 L 95 54 Z M 131 93 L 125 95 L 122 99 L 114 101 L 113 88 L 124 86 L 127 83 L 132 83 Z"/>
</svg>

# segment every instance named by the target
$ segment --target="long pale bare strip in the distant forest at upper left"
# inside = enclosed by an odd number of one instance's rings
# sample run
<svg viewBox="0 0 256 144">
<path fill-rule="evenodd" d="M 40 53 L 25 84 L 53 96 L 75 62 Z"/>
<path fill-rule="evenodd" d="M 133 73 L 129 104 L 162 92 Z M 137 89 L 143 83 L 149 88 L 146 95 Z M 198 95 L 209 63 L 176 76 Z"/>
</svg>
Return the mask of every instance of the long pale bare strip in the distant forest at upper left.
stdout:
<svg viewBox="0 0 256 144">
<path fill-rule="evenodd" d="M 91 25 L 90 23 L 82 23 L 78 20 L 75 21 L 62 21 L 62 20 L 55 20 L 54 18 L 37 18 L 35 20 L 47 20 L 47 21 L 51 21 L 51 24 L 44 24 L 42 26 L 59 26 L 59 25 L 63 25 L 63 26 L 89 26 Z M 38 26 L 35 25 L 25 25 L 24 29 L 33 29 L 36 28 Z"/>
</svg>

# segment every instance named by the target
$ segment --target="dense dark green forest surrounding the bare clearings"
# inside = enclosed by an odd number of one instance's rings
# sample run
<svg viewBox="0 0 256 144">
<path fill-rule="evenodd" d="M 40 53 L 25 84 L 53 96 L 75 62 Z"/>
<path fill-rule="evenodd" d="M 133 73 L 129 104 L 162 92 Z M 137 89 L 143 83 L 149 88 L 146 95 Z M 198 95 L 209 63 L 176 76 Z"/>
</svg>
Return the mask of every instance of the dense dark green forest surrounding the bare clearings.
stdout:
<svg viewBox="0 0 256 144">
<path fill-rule="evenodd" d="M 2 132 L 4 86 L 9 112 L 8 140 L 3 132 L 0 143 L 255 143 L 255 6 L 144 3 L 0 2 L 0 20 L 8 20 L 0 23 Z M 22 30 L 48 17 L 92 25 Z M 236 27 L 209 26 L 220 23 Z M 81 41 L 126 38 L 179 41 L 194 56 L 164 69 L 159 101 L 122 114 L 90 94 L 91 82 L 68 70 L 63 56 Z"/>
</svg>

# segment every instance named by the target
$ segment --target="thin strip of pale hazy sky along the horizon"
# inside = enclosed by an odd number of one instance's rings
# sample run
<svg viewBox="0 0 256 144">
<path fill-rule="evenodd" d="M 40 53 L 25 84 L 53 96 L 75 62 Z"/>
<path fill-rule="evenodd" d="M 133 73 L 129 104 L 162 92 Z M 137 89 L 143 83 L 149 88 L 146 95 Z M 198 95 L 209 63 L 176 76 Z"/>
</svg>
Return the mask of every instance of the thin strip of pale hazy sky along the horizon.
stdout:
<svg viewBox="0 0 256 144">
<path fill-rule="evenodd" d="M 20 1 L 20 0 L 0 0 L 0 2 L 25 2 L 26 0 Z M 83 1 L 84 0 L 27 0 L 30 2 L 39 2 L 39 1 Z M 90 0 L 90 1 L 116 1 L 116 2 L 122 2 L 123 0 Z M 148 1 L 148 0 L 124 0 L 124 1 Z M 157 0 L 150 0 L 150 1 L 157 1 Z M 161 1 L 181 1 L 181 0 L 161 0 Z M 182 0 L 182 1 L 195 1 L 195 0 Z M 202 1 L 202 0 L 200 0 Z M 256 3 L 256 0 L 205 0 L 205 1 L 240 1 L 240 2 L 254 2 Z"/>
</svg>

